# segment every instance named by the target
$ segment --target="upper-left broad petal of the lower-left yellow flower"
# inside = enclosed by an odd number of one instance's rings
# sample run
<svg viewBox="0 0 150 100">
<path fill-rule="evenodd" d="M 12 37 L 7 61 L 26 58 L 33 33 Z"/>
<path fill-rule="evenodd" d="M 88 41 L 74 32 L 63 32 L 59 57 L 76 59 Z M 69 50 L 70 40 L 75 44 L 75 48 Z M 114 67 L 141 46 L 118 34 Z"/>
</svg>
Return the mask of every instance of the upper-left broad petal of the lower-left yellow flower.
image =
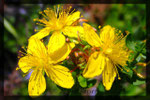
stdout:
<svg viewBox="0 0 150 100">
<path fill-rule="evenodd" d="M 30 38 L 27 53 L 41 58 L 47 55 L 47 50 L 42 41 L 37 38 Z"/>
</svg>

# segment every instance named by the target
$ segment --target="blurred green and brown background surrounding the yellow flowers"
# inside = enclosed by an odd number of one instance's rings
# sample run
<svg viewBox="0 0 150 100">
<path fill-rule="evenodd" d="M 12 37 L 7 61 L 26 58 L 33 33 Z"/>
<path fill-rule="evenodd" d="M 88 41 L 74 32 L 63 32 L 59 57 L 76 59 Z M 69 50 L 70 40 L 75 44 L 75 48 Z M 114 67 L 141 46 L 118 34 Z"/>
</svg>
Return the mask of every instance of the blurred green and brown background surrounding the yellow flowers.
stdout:
<svg viewBox="0 0 150 100">
<path fill-rule="evenodd" d="M 136 62 L 145 62 L 146 49 L 146 6 L 145 4 L 64 4 L 71 5 L 88 23 L 98 29 L 98 25 L 111 25 L 123 33 L 128 31 L 127 46 L 133 50 Z M 28 38 L 37 29 L 34 18 L 40 17 L 39 11 L 54 5 L 23 4 L 4 5 L 4 95 L 28 95 L 28 79 L 21 71 L 16 71 L 18 50 L 27 46 Z M 145 67 L 133 66 L 145 75 Z M 122 75 L 124 76 L 124 75 Z M 130 76 L 130 75 L 129 75 Z M 103 85 L 98 86 L 97 95 L 145 96 L 145 80 L 134 80 L 124 76 L 114 82 L 112 90 L 105 92 Z M 47 78 L 47 89 L 43 95 L 62 95 L 63 91 Z M 79 94 L 80 95 L 80 94 Z"/>
</svg>

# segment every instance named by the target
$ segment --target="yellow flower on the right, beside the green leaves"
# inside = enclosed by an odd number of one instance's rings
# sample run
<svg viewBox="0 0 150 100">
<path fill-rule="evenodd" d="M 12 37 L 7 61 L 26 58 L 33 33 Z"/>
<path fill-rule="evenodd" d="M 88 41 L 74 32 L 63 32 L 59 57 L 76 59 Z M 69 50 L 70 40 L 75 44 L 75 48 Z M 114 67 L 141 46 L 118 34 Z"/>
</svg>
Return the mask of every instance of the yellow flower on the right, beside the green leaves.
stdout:
<svg viewBox="0 0 150 100">
<path fill-rule="evenodd" d="M 98 36 L 93 28 L 84 23 L 85 39 L 92 47 L 98 47 L 89 57 L 83 76 L 93 78 L 102 74 L 103 85 L 110 90 L 118 74 L 117 67 L 124 68 L 128 60 L 129 52 L 125 45 L 125 37 L 122 33 L 116 33 L 115 28 L 109 25 L 103 27 Z M 122 69 L 121 68 L 121 69 Z M 119 74 L 118 74 L 119 77 Z"/>
</svg>

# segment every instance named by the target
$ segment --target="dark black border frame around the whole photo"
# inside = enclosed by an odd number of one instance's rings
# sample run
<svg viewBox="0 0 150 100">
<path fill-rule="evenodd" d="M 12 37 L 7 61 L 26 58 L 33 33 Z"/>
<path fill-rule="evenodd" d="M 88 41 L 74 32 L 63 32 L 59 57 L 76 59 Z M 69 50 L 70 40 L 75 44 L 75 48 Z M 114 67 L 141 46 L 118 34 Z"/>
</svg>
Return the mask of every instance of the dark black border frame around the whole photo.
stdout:
<svg viewBox="0 0 150 100">
<path fill-rule="evenodd" d="M 41 0 L 43 4 L 145 4 L 146 5 L 146 34 L 147 34 L 147 41 L 146 41 L 146 62 L 150 61 L 150 52 L 148 52 L 148 50 L 150 50 L 150 0 Z M 0 12 L 1 12 L 1 16 L 4 17 L 4 4 L 39 4 L 41 2 L 37 2 L 36 0 L 1 0 L 0 1 Z M 0 18 L 0 20 L 3 20 Z M 4 21 L 2 24 L 0 24 L 1 27 L 1 32 L 4 33 Z M 1 40 L 1 45 L 0 45 L 0 56 L 4 57 L 3 55 L 3 34 L 1 34 L 0 36 L 0 40 Z M 2 66 L 4 64 L 2 63 Z M 7 100 L 14 100 L 14 99 L 21 99 L 21 98 L 26 98 L 26 99 L 32 99 L 29 96 L 4 96 L 4 90 L 3 90 L 3 82 L 4 82 L 4 68 L 1 66 L 0 68 L 0 75 L 1 77 L 1 81 L 0 81 L 0 89 L 2 88 L 2 90 L 0 91 L 0 98 L 1 100 L 3 100 L 4 98 Z M 141 98 L 141 99 L 147 99 L 147 97 L 150 97 L 150 64 L 146 66 L 146 96 L 136 96 L 136 98 Z M 79 98 L 79 99 L 87 99 L 90 100 L 90 98 L 87 97 L 80 97 L 80 96 L 41 96 L 38 97 L 36 99 L 50 99 L 50 100 L 59 100 L 59 99 L 74 99 L 74 98 Z M 49 98 L 50 97 L 50 98 Z M 124 99 L 132 99 L 130 96 L 123 96 L 123 97 L 118 97 L 118 96 L 108 96 L 108 97 L 100 97 L 100 96 L 96 96 L 91 100 L 94 99 L 120 99 L 124 98 Z"/>
</svg>

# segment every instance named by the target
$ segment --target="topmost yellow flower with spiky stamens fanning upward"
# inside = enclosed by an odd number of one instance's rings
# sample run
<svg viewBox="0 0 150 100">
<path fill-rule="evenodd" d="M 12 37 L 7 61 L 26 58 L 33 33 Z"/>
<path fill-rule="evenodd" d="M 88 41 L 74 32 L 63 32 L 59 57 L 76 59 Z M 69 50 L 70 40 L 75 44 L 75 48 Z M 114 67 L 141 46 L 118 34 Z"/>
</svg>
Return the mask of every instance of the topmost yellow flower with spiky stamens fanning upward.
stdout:
<svg viewBox="0 0 150 100">
<path fill-rule="evenodd" d="M 54 9 L 47 8 L 42 14 L 42 19 L 34 19 L 38 21 L 44 28 L 37 32 L 32 37 L 42 39 L 52 33 L 50 41 L 53 44 L 48 45 L 48 47 L 53 48 L 50 53 L 60 49 L 66 43 L 66 37 L 77 38 L 79 32 L 83 32 L 83 27 L 75 25 L 80 19 L 80 12 L 70 12 L 70 8 L 64 9 L 59 5 L 54 7 Z M 32 38 L 31 37 L 31 38 Z"/>
</svg>

